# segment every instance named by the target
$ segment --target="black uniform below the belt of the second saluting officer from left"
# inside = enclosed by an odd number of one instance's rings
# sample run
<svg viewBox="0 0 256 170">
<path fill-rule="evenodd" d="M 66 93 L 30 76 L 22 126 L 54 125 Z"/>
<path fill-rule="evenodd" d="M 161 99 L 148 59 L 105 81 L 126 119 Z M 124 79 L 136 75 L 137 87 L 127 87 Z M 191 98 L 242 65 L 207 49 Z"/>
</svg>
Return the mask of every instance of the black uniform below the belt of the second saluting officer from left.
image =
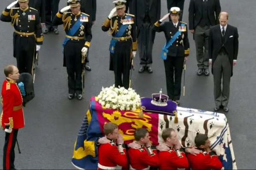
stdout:
<svg viewBox="0 0 256 170">
<path fill-rule="evenodd" d="M 82 54 L 84 40 L 77 42 L 69 40 L 64 47 L 67 66 L 67 80 L 69 94 L 82 94 Z"/>
</svg>

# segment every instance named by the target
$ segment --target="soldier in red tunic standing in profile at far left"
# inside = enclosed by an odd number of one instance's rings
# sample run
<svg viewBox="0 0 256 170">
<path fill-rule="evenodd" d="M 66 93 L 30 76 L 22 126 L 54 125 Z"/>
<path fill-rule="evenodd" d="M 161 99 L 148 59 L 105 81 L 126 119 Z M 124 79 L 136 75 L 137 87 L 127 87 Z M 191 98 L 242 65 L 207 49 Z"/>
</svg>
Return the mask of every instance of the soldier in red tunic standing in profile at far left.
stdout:
<svg viewBox="0 0 256 170">
<path fill-rule="evenodd" d="M 3 170 L 15 170 L 15 144 L 18 130 L 24 127 L 24 114 L 22 109 L 22 96 L 15 83 L 20 74 L 17 67 L 7 65 L 4 68 L 6 79 L 3 81 L 1 103 L 3 112 L 0 118 L 1 128 L 5 131 L 3 147 Z"/>
</svg>

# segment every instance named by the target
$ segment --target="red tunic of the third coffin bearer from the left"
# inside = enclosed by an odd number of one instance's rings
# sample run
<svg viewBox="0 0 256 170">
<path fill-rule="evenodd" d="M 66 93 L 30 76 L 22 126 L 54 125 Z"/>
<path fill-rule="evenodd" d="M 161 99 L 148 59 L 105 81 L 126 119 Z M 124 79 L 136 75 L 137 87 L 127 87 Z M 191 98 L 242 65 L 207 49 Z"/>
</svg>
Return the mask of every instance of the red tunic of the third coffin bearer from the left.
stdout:
<svg viewBox="0 0 256 170">
<path fill-rule="evenodd" d="M 158 152 L 160 170 L 188 169 L 189 161 L 183 149 L 175 151 L 173 147 L 168 151 Z"/>
</svg>

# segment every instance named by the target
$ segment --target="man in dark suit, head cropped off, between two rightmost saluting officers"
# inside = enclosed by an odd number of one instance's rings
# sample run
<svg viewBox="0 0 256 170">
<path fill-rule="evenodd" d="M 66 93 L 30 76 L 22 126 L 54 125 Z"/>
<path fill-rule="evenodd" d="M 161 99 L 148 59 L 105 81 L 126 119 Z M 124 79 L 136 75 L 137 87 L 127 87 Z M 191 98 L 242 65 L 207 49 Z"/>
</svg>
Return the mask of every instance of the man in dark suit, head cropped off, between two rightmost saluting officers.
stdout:
<svg viewBox="0 0 256 170">
<path fill-rule="evenodd" d="M 142 73 L 146 67 L 148 73 L 152 73 L 152 48 L 155 33 L 151 32 L 151 28 L 160 19 L 161 0 L 133 0 L 132 11 L 138 32 L 139 73 Z"/>
</svg>

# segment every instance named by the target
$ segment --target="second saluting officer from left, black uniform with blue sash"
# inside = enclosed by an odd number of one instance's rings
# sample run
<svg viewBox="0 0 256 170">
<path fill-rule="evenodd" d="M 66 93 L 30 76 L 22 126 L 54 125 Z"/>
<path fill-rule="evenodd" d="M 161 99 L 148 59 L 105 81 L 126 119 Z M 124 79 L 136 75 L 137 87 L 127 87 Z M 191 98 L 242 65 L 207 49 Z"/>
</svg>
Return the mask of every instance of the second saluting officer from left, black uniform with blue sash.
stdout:
<svg viewBox="0 0 256 170">
<path fill-rule="evenodd" d="M 92 38 L 89 15 L 80 11 L 80 0 L 70 0 L 70 6 L 62 8 L 53 18 L 55 25 L 63 24 L 66 39 L 63 42 L 64 64 L 68 74 L 68 98 L 77 99 L 82 96 L 82 54 L 86 55 Z M 71 12 L 64 12 L 71 9 Z"/>
</svg>

